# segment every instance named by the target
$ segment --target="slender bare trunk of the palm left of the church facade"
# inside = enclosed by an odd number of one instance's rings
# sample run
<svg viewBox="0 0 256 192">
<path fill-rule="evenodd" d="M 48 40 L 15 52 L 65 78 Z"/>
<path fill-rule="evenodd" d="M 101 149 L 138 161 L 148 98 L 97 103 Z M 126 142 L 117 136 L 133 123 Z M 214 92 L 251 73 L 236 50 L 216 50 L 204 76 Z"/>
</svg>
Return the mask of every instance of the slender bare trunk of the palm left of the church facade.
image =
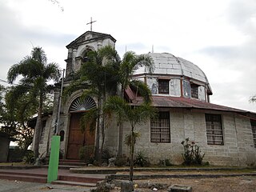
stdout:
<svg viewBox="0 0 256 192">
<path fill-rule="evenodd" d="M 34 159 L 39 157 L 39 142 L 42 130 L 42 94 L 39 98 L 38 117 L 34 128 Z"/>
</svg>

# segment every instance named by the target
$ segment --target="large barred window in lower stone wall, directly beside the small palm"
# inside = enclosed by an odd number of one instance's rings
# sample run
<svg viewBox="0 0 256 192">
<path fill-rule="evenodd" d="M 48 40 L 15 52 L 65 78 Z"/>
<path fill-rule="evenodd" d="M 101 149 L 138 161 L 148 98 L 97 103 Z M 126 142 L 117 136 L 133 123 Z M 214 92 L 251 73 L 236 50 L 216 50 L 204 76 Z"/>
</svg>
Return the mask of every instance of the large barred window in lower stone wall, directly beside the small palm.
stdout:
<svg viewBox="0 0 256 192">
<path fill-rule="evenodd" d="M 150 122 L 151 142 L 170 142 L 170 113 L 159 112 Z"/>
</svg>

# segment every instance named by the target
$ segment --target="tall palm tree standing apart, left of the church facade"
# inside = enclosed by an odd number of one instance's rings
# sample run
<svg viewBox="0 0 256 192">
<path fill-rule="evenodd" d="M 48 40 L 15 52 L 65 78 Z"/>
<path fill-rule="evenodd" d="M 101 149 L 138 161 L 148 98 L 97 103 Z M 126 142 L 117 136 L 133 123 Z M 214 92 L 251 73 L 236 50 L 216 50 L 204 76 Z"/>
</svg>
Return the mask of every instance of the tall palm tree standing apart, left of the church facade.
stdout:
<svg viewBox="0 0 256 192">
<path fill-rule="evenodd" d="M 42 47 L 34 47 L 30 56 L 10 67 L 7 80 L 13 83 L 18 75 L 22 75 L 17 86 L 18 94 L 29 94 L 30 99 L 38 98 L 38 117 L 34 130 L 34 156 L 38 158 L 39 139 L 42 130 L 42 108 L 46 93 L 53 90 L 54 86 L 47 84 L 50 80 L 58 82 L 60 73 L 54 62 L 47 63 L 47 58 Z"/>
</svg>

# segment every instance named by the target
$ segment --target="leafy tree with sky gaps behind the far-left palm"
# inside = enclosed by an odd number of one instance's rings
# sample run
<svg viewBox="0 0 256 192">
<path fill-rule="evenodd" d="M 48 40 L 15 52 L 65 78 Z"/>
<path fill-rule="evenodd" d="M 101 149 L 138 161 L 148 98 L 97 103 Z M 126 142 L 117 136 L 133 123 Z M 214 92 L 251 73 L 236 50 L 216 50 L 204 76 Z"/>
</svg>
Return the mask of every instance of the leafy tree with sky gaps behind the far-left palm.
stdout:
<svg viewBox="0 0 256 192">
<path fill-rule="evenodd" d="M 26 150 L 33 141 L 34 129 L 28 125 L 34 114 L 37 113 L 38 99 L 30 99 L 28 94 L 16 95 L 16 86 L 6 88 L 0 122 L 4 124 L 1 130 L 11 134 L 17 139 L 18 146 Z M 48 95 L 45 101 L 43 112 L 52 109 L 53 98 Z"/>
</svg>

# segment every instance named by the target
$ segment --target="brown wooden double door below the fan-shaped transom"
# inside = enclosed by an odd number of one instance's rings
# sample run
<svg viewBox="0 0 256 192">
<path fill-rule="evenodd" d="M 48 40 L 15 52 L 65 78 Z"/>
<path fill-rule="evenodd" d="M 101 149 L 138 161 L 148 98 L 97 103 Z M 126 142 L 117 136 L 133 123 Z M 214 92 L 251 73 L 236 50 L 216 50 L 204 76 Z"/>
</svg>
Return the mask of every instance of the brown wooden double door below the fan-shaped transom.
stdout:
<svg viewBox="0 0 256 192">
<path fill-rule="evenodd" d="M 89 129 L 82 132 L 80 118 L 83 113 L 72 113 L 70 117 L 70 133 L 66 158 L 80 159 L 79 150 L 82 146 L 94 146 L 95 134 Z"/>
</svg>

